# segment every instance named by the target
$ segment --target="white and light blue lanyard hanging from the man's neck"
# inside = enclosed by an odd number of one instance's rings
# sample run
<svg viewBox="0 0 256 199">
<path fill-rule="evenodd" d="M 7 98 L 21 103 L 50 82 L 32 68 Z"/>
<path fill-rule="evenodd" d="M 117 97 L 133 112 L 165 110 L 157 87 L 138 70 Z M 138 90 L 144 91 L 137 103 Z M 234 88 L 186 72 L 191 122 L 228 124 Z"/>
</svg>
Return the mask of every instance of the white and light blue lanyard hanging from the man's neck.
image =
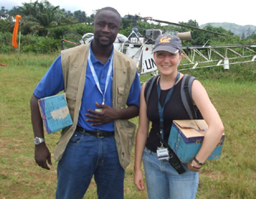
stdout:
<svg viewBox="0 0 256 199">
<path fill-rule="evenodd" d="M 113 56 L 111 56 L 111 62 L 109 64 L 109 67 L 108 67 L 108 71 L 107 71 L 107 79 L 106 79 L 106 84 L 105 84 L 105 90 L 104 90 L 104 93 L 102 93 L 102 89 L 100 87 L 100 83 L 98 81 L 98 78 L 97 78 L 97 74 L 94 70 L 94 67 L 92 65 L 92 60 L 91 60 L 91 52 L 89 50 L 89 53 L 88 53 L 88 62 L 89 62 L 89 66 L 91 68 L 91 71 L 92 71 L 92 76 L 93 76 L 93 79 L 96 83 L 96 86 L 97 86 L 97 89 L 101 92 L 102 94 L 102 97 L 103 97 L 103 101 L 102 101 L 102 104 L 105 104 L 105 94 L 106 94 L 106 91 L 107 91 L 107 86 L 108 86 L 108 83 L 109 83 L 109 80 L 110 80 L 110 77 L 111 77 L 111 71 L 112 71 L 112 67 L 113 67 Z"/>
</svg>

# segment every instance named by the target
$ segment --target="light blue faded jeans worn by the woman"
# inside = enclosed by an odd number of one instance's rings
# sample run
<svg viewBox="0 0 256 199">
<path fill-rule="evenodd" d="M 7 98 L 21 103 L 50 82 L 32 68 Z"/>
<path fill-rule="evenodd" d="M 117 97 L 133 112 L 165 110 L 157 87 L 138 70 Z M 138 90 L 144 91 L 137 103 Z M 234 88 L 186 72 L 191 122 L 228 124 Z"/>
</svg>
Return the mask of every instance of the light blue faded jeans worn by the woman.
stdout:
<svg viewBox="0 0 256 199">
<path fill-rule="evenodd" d="M 197 195 L 199 173 L 187 169 L 178 174 L 167 160 L 145 148 L 142 157 L 149 199 L 193 199 Z"/>
</svg>

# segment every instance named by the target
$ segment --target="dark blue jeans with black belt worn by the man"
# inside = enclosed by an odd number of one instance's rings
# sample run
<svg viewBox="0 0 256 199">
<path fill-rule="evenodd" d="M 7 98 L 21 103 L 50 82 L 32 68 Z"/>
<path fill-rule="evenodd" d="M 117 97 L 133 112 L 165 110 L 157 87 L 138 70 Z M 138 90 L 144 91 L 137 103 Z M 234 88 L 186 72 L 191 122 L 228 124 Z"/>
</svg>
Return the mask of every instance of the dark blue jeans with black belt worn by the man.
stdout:
<svg viewBox="0 0 256 199">
<path fill-rule="evenodd" d="M 56 199 L 83 198 L 93 175 L 98 198 L 124 198 L 125 170 L 119 163 L 115 137 L 74 132 L 59 160 Z"/>
</svg>

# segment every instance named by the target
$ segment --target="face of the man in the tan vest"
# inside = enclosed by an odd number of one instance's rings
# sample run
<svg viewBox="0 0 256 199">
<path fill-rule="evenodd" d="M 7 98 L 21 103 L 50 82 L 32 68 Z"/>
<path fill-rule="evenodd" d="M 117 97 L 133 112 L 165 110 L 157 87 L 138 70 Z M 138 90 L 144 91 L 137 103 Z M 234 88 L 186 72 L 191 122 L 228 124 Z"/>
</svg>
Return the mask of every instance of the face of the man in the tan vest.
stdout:
<svg viewBox="0 0 256 199">
<path fill-rule="evenodd" d="M 120 30 L 121 21 L 115 12 L 99 12 L 94 20 L 94 40 L 102 47 L 112 45 Z"/>
</svg>

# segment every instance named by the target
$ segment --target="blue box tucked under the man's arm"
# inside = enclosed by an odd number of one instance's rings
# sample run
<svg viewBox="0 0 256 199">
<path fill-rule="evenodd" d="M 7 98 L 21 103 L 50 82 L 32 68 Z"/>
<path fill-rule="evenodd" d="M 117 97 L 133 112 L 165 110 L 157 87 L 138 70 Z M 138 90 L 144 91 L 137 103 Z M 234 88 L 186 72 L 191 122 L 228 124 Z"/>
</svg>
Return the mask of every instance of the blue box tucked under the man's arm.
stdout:
<svg viewBox="0 0 256 199">
<path fill-rule="evenodd" d="M 65 94 L 42 98 L 38 104 L 47 133 L 57 132 L 73 124 Z"/>
</svg>

